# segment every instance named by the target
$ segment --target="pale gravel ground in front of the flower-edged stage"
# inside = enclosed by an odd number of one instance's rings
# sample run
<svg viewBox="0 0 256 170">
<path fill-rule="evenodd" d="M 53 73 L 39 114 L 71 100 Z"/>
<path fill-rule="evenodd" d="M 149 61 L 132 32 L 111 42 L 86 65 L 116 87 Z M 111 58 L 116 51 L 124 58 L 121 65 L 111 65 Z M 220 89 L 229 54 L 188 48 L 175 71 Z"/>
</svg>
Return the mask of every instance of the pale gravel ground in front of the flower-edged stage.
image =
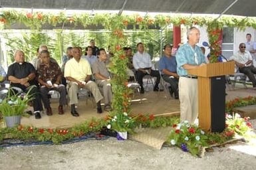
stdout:
<svg viewBox="0 0 256 170">
<path fill-rule="evenodd" d="M 256 120 L 251 120 L 256 127 Z M 0 169 L 255 169 L 256 139 L 215 147 L 203 158 L 178 147 L 154 149 L 136 141 L 88 140 L 0 150 Z"/>
</svg>

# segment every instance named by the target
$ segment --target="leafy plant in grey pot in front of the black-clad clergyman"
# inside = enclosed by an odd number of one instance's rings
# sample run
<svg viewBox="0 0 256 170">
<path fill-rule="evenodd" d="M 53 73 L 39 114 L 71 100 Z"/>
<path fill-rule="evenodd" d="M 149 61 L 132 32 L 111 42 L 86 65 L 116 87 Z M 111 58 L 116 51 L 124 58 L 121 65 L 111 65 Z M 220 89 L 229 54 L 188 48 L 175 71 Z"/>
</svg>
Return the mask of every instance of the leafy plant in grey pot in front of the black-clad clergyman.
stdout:
<svg viewBox="0 0 256 170">
<path fill-rule="evenodd" d="M 29 94 L 15 94 L 11 88 L 8 90 L 7 98 L 0 100 L 0 113 L 5 118 L 5 123 L 8 128 L 15 126 L 15 124 L 21 124 L 21 116 L 25 113 L 28 107 L 29 101 L 33 100 Z"/>
</svg>

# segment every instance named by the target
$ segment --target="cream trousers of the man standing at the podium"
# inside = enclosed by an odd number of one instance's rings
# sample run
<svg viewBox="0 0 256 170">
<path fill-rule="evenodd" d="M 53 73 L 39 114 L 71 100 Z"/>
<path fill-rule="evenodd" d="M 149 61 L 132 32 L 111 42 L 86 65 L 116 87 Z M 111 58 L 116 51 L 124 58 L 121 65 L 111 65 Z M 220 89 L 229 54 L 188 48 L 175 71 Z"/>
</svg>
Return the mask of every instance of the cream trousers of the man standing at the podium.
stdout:
<svg viewBox="0 0 256 170">
<path fill-rule="evenodd" d="M 190 124 L 194 124 L 198 116 L 197 79 L 180 76 L 179 97 L 180 122 L 188 120 Z"/>
</svg>

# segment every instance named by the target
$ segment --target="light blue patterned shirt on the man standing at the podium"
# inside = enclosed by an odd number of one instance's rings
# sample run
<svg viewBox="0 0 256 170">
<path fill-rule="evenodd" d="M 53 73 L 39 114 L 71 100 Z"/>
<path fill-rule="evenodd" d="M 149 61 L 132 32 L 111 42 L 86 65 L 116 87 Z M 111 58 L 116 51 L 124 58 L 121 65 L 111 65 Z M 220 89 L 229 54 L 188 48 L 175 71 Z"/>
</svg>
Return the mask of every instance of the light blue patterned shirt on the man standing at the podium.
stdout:
<svg viewBox="0 0 256 170">
<path fill-rule="evenodd" d="M 205 56 L 201 52 L 201 48 L 195 45 L 195 48 L 192 48 L 188 42 L 182 45 L 176 54 L 177 61 L 177 73 L 179 76 L 188 75 L 187 70 L 182 66 L 184 64 L 200 65 L 201 63 L 206 63 Z"/>
</svg>

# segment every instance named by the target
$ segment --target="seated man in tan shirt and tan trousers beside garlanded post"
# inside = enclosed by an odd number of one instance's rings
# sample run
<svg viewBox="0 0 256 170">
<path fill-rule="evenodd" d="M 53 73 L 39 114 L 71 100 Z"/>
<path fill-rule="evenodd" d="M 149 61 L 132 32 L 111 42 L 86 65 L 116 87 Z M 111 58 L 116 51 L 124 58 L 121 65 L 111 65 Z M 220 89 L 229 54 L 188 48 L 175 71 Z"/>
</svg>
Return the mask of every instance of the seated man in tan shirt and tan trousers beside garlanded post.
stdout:
<svg viewBox="0 0 256 170">
<path fill-rule="evenodd" d="M 105 101 L 104 110 L 111 111 L 111 102 L 112 102 L 112 88 L 110 84 L 110 73 L 108 68 L 106 68 L 106 51 L 104 48 L 98 50 L 98 60 L 92 65 L 92 72 L 96 79 L 96 84 L 103 90 L 103 96 Z"/>
</svg>

